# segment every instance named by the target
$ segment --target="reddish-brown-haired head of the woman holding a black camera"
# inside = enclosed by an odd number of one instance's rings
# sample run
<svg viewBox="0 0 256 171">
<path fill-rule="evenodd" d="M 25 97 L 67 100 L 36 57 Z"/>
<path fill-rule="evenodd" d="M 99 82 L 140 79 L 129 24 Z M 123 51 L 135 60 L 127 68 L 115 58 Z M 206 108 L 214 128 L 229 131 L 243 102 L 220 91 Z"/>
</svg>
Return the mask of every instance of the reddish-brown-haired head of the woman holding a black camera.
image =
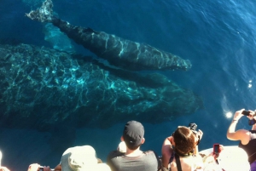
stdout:
<svg viewBox="0 0 256 171">
<path fill-rule="evenodd" d="M 175 151 L 179 155 L 188 155 L 195 147 L 195 134 L 187 127 L 177 127 L 172 134 Z"/>
</svg>

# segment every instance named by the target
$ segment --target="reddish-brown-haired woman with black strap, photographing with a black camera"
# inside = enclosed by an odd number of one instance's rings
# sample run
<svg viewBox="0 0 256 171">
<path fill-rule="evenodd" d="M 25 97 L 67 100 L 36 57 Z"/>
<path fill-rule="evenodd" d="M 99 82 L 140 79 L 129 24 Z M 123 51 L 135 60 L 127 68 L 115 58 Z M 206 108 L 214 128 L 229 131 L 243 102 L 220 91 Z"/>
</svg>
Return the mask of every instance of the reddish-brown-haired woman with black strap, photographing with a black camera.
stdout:
<svg viewBox="0 0 256 171">
<path fill-rule="evenodd" d="M 167 137 L 164 141 L 162 145 L 162 164 L 167 170 L 191 171 L 203 168 L 202 158 L 198 153 L 197 146 L 203 133 L 201 130 L 193 130 L 195 128 L 190 128 L 190 126 L 191 123 L 189 128 L 177 127 L 172 136 Z"/>
</svg>

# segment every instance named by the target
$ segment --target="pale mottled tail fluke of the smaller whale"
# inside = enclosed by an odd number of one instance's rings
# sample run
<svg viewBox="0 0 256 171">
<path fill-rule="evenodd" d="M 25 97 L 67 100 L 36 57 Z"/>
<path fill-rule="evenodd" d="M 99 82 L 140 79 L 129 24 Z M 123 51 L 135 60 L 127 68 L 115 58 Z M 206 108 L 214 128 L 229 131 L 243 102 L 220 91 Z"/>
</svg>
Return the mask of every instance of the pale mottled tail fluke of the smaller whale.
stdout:
<svg viewBox="0 0 256 171">
<path fill-rule="evenodd" d="M 52 8 L 52 1 L 45 0 L 39 9 L 32 10 L 29 14 L 26 14 L 26 16 L 32 20 L 38 20 L 40 22 L 52 22 L 54 19 Z"/>
</svg>

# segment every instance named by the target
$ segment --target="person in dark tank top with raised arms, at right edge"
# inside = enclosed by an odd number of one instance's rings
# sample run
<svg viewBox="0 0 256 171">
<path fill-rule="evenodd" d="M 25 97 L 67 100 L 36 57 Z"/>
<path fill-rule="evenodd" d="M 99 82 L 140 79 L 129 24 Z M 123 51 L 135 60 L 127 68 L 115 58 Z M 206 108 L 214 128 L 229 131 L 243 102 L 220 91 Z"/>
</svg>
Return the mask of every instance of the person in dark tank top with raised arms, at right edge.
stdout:
<svg viewBox="0 0 256 171">
<path fill-rule="evenodd" d="M 251 130 L 238 129 L 236 130 L 236 124 L 239 119 L 246 114 L 244 109 L 236 111 L 230 127 L 227 131 L 227 138 L 229 140 L 240 140 L 239 147 L 247 152 L 248 162 L 250 163 L 251 171 L 256 171 L 256 122 L 255 111 L 248 111 L 247 117 L 249 118 L 249 125 L 253 125 Z"/>
</svg>

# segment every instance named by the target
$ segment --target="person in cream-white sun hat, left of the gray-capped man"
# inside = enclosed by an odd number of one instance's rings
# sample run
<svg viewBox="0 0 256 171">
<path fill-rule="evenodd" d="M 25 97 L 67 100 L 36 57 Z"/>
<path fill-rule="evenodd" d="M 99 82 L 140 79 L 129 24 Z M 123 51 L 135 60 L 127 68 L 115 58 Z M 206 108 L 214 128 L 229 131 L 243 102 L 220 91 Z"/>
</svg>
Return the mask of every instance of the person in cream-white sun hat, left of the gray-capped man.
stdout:
<svg viewBox="0 0 256 171">
<path fill-rule="evenodd" d="M 61 157 L 62 171 L 110 171 L 107 164 L 97 163 L 96 151 L 90 145 L 68 148 Z"/>
</svg>

